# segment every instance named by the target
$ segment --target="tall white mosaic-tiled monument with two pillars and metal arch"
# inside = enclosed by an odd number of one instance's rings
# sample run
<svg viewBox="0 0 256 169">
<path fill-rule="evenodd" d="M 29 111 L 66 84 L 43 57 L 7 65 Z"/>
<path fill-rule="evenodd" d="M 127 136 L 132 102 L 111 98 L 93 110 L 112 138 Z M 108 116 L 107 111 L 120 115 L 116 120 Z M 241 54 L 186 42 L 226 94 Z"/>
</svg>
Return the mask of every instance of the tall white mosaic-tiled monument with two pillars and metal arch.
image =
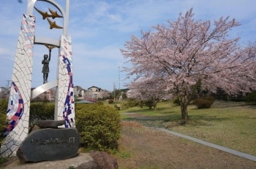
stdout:
<svg viewBox="0 0 256 169">
<path fill-rule="evenodd" d="M 49 13 L 42 12 L 35 7 L 37 1 L 52 4 L 58 11 L 53 11 L 49 8 Z M 63 28 L 63 33 L 60 35 L 59 39 L 34 36 L 36 30 L 36 18 L 33 15 L 34 9 L 42 15 L 42 19 L 48 20 L 50 29 Z M 63 26 L 56 25 L 56 22 L 53 21 L 56 17 L 63 18 Z M 75 126 L 75 105 L 72 82 L 72 39 L 71 36 L 68 35 L 68 21 L 69 0 L 66 0 L 66 10 L 62 9 L 54 0 L 28 0 L 27 13 L 22 17 L 18 36 L 7 109 L 8 125 L 4 130 L 5 138 L 1 145 L 1 157 L 16 156 L 20 144 L 29 133 L 29 108 L 31 99 L 53 87 L 57 87 L 54 120 L 64 120 L 64 125 L 61 127 Z M 40 85 L 31 92 L 34 44 L 59 47 L 59 58 L 56 80 L 45 82 L 45 84 Z M 61 131 L 61 133 L 65 133 L 65 130 Z"/>
</svg>

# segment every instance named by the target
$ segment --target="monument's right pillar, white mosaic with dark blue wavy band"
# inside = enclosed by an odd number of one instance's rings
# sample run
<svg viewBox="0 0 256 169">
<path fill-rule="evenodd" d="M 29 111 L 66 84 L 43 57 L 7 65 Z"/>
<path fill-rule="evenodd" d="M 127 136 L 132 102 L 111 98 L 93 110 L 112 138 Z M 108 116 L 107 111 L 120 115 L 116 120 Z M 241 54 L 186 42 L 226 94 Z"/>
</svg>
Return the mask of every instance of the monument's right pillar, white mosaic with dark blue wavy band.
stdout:
<svg viewBox="0 0 256 169">
<path fill-rule="evenodd" d="M 56 99 L 56 120 L 65 120 L 64 127 L 75 127 L 75 105 L 72 71 L 72 39 L 61 35 L 59 48 L 58 93 Z M 57 103 L 58 101 L 58 103 Z"/>
</svg>

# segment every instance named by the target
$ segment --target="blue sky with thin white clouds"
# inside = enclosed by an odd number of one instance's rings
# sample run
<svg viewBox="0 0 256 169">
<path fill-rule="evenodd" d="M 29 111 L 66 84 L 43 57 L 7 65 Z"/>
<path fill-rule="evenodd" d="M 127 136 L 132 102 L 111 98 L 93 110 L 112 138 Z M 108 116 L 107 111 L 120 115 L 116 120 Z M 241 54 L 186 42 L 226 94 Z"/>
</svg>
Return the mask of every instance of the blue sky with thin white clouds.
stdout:
<svg viewBox="0 0 256 169">
<path fill-rule="evenodd" d="M 64 0 L 56 0 L 65 9 Z M 193 7 L 197 20 L 211 20 L 230 16 L 241 26 L 230 31 L 230 37 L 240 36 L 241 44 L 256 40 L 255 0 L 70 0 L 69 35 L 72 36 L 74 85 L 84 89 L 97 86 L 105 90 L 124 88 L 130 79 L 124 80 L 121 72 L 124 60 L 120 49 L 131 35 L 140 36 L 140 30 L 151 30 L 151 25 L 167 24 L 176 20 Z M 20 21 L 26 14 L 27 1 L 4 0 L 0 5 L 0 87 L 7 86 L 12 78 L 12 67 L 18 43 Z M 35 7 L 42 11 L 56 10 L 51 4 L 37 1 Z M 49 29 L 46 20 L 34 10 L 36 36 L 59 39 L 62 31 Z M 56 19 L 62 25 L 62 19 Z M 45 46 L 35 44 L 33 56 L 32 87 L 42 84 L 42 64 Z M 58 49 L 52 51 L 48 81 L 56 79 Z M 118 68 L 120 67 L 120 68 Z M 119 71 L 120 70 L 120 71 Z M 120 80 L 119 80 L 120 76 Z"/>
</svg>

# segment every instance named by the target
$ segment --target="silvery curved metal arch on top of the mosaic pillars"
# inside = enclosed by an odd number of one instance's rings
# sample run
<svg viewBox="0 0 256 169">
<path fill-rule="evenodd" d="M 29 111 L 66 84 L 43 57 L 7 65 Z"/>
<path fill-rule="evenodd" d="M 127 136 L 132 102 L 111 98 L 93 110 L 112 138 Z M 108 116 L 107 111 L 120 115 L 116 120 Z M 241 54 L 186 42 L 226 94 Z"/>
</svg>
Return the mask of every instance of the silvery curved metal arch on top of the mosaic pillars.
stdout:
<svg viewBox="0 0 256 169">
<path fill-rule="evenodd" d="M 33 10 L 34 10 L 34 4 L 37 1 L 45 1 L 50 4 L 53 4 L 54 7 L 59 9 L 59 12 L 61 12 L 61 15 L 63 16 L 63 34 L 67 35 L 68 31 L 68 21 L 69 21 L 69 0 L 66 0 L 66 9 L 67 11 L 65 12 L 64 9 L 54 0 L 28 0 L 28 5 L 27 5 L 27 14 L 28 15 L 33 15 Z"/>
</svg>

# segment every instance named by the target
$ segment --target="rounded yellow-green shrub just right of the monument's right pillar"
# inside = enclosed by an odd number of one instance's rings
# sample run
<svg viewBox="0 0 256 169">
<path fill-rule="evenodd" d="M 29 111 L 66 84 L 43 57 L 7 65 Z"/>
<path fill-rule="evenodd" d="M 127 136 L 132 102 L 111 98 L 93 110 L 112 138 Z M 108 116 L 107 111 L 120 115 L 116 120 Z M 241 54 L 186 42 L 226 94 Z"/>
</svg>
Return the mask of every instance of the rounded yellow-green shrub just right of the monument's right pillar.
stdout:
<svg viewBox="0 0 256 169">
<path fill-rule="evenodd" d="M 117 148 L 121 117 L 116 109 L 97 104 L 76 104 L 75 110 L 81 146 L 99 151 Z"/>
</svg>

